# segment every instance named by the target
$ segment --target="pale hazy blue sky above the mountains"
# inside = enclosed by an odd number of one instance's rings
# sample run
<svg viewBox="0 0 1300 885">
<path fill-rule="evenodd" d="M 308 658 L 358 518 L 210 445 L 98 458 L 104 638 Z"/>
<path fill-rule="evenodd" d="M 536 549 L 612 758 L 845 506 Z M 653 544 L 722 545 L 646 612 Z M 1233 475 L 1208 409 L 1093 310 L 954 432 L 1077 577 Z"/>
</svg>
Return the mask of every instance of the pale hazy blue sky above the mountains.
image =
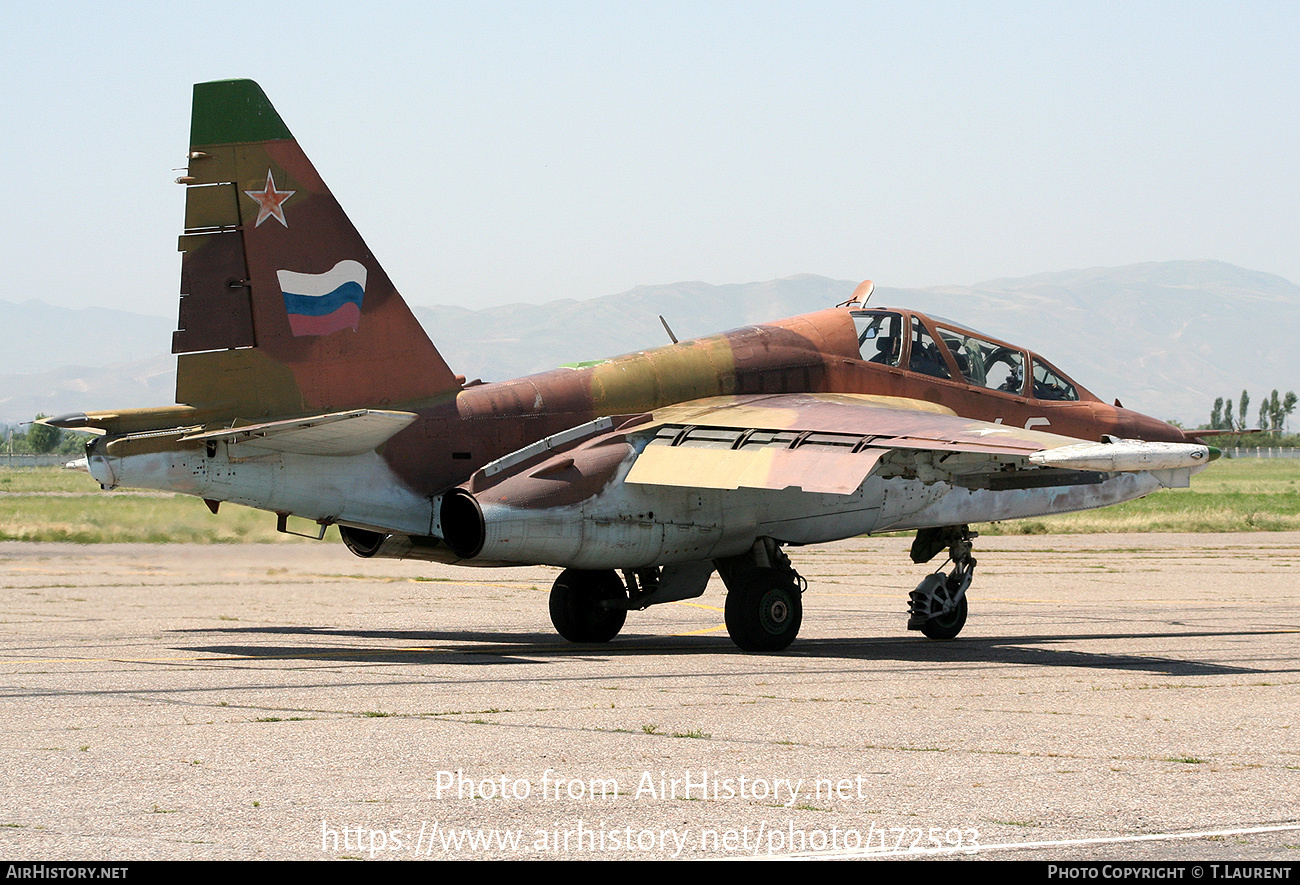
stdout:
<svg viewBox="0 0 1300 885">
<path fill-rule="evenodd" d="M 1294 0 L 43 3 L 0 44 L 6 300 L 173 314 L 190 88 L 231 77 L 413 304 L 1174 259 L 1300 282 Z"/>
</svg>

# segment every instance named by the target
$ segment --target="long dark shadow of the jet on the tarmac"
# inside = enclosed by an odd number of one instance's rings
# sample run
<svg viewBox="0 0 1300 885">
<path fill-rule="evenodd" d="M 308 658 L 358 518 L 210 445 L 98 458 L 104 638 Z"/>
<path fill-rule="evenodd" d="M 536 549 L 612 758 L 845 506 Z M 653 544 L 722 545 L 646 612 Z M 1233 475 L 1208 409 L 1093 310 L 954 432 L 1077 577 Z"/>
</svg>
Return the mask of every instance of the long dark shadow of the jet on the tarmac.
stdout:
<svg viewBox="0 0 1300 885">
<path fill-rule="evenodd" d="M 538 658 L 610 659 L 647 655 L 745 655 L 725 634 L 651 635 L 624 633 L 610 643 L 569 643 L 552 633 L 489 630 L 348 630 L 313 626 L 244 626 L 220 630 L 177 630 L 176 633 L 229 633 L 299 635 L 338 639 L 385 639 L 402 647 L 358 647 L 347 645 L 207 645 L 187 646 L 190 652 L 229 655 L 252 660 L 330 660 L 369 664 L 510 664 L 536 663 Z M 1010 664 L 1030 667 L 1076 667 L 1098 671 L 1148 672 L 1161 676 L 1223 676 L 1242 673 L 1288 673 L 1297 668 L 1278 668 L 1271 663 L 1242 667 L 1206 660 L 1179 659 L 1160 654 L 1117 654 L 1080 651 L 1087 642 L 1131 642 L 1150 639 L 1240 639 L 1291 634 L 1295 630 L 1182 630 L 1162 633 L 1086 633 L 1072 635 L 1008 635 L 928 642 L 913 637 L 805 638 L 776 655 L 750 655 L 755 661 L 780 659 L 826 659 L 896 661 L 900 664 Z M 1069 643 L 1074 647 L 1058 647 Z M 1217 646 L 1218 643 L 1216 643 Z"/>
</svg>

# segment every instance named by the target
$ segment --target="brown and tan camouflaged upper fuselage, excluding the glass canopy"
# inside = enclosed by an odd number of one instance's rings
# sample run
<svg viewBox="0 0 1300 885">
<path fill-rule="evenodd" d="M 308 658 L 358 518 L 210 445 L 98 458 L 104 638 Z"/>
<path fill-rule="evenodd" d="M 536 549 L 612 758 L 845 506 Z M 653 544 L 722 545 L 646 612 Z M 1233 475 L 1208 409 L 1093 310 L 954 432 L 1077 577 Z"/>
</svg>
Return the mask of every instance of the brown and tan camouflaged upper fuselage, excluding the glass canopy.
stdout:
<svg viewBox="0 0 1300 885">
<path fill-rule="evenodd" d="M 382 454 L 419 494 L 437 494 L 462 485 L 484 464 L 597 417 L 640 415 L 706 396 L 789 392 L 918 399 L 963 417 L 1078 439 L 1109 434 L 1183 441 L 1176 428 L 1075 387 L 1079 400 L 1049 402 L 868 363 L 858 352 L 850 311 L 833 308 L 595 365 L 465 387 L 454 400 L 416 408 L 420 420 Z"/>
</svg>

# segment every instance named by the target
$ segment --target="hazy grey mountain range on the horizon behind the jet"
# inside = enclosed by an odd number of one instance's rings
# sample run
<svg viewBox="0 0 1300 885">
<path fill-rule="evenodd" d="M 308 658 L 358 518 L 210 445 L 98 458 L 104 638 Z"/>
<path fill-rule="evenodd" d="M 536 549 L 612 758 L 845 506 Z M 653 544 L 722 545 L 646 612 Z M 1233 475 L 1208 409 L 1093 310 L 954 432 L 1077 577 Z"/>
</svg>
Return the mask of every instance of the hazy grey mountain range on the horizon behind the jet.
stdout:
<svg viewBox="0 0 1300 885">
<path fill-rule="evenodd" d="M 452 370 L 500 381 L 562 363 L 685 340 L 809 313 L 858 281 L 801 276 L 755 283 L 638 286 L 628 292 L 482 311 L 415 307 Z M 407 296 L 412 300 L 411 296 Z M 949 317 L 1056 363 L 1105 400 L 1195 426 L 1216 396 L 1300 389 L 1300 286 L 1221 261 L 1165 261 L 993 279 L 974 286 L 878 286 L 872 307 Z M 173 402 L 174 320 L 0 300 L 0 422 L 38 412 Z"/>
</svg>

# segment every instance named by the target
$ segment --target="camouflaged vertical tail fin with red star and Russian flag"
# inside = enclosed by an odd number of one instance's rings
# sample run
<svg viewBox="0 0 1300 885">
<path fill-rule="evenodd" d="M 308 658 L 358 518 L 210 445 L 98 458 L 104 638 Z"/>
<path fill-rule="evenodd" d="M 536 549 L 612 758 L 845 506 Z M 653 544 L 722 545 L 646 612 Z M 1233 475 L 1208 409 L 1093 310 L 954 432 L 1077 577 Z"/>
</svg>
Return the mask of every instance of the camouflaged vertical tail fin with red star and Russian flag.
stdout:
<svg viewBox="0 0 1300 885">
<path fill-rule="evenodd" d="M 252 81 L 194 87 L 177 402 L 254 418 L 459 390 Z"/>
</svg>

